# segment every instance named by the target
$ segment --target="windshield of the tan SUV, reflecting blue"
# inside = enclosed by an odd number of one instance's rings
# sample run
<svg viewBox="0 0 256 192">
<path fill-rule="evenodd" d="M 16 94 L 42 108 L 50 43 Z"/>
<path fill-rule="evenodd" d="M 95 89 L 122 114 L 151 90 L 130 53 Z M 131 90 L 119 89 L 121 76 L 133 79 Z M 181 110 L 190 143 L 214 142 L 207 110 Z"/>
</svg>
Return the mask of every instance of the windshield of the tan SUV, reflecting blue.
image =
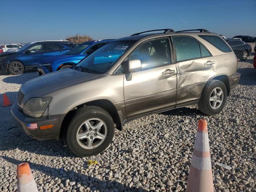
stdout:
<svg viewBox="0 0 256 192">
<path fill-rule="evenodd" d="M 126 52 L 136 41 L 114 41 L 102 46 L 77 66 L 84 71 L 106 73 L 113 64 Z"/>
</svg>

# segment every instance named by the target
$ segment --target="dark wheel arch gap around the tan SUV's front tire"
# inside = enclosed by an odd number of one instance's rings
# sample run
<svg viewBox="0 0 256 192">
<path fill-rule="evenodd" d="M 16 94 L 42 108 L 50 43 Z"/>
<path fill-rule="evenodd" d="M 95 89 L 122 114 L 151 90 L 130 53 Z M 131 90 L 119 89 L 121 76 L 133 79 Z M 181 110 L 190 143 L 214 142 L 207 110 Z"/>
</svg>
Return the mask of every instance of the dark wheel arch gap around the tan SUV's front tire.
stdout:
<svg viewBox="0 0 256 192">
<path fill-rule="evenodd" d="M 78 110 L 79 108 L 82 108 L 84 106 L 97 106 L 97 107 L 100 107 L 100 108 L 104 109 L 112 117 L 114 123 L 116 124 L 116 128 L 118 130 L 122 130 L 121 120 L 120 120 L 120 117 L 118 115 L 117 109 L 114 106 L 114 104 L 112 104 L 112 102 L 110 102 L 109 100 L 100 99 L 100 100 L 89 101 L 89 102 L 80 104 L 80 105 L 76 106 L 75 108 L 72 108 L 65 115 L 65 117 L 62 121 L 59 137 L 62 137 L 63 134 L 65 134 L 66 129 L 68 128 L 68 124 L 69 124 L 71 118 L 76 114 L 76 110 Z"/>
</svg>

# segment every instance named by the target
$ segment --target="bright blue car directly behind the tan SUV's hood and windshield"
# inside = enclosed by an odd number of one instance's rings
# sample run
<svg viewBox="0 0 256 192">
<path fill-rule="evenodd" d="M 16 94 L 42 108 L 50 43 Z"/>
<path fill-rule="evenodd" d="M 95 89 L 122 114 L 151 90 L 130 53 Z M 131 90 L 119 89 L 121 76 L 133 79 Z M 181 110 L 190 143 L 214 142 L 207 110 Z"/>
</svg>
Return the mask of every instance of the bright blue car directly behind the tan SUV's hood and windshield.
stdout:
<svg viewBox="0 0 256 192">
<path fill-rule="evenodd" d="M 81 44 L 80 46 L 73 48 L 66 54 L 62 55 L 60 58 L 55 58 L 50 63 L 41 63 L 38 64 L 37 69 L 39 75 L 48 74 L 50 72 L 54 72 L 57 70 L 61 70 L 64 68 L 70 68 L 82 59 L 86 58 L 86 56 L 92 54 L 98 48 L 104 46 L 108 42 L 111 42 L 113 39 L 106 40 L 93 40 L 87 41 Z"/>
</svg>

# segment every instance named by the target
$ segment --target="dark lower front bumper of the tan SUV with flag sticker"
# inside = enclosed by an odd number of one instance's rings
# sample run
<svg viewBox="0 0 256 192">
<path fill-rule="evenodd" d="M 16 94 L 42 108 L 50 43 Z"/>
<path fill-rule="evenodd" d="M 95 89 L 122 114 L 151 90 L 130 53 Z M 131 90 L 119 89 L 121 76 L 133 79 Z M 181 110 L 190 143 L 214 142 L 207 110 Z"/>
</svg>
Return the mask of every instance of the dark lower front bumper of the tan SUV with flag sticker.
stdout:
<svg viewBox="0 0 256 192">
<path fill-rule="evenodd" d="M 32 118 L 24 114 L 18 109 L 17 102 L 15 102 L 11 109 L 12 116 L 16 121 L 16 124 L 21 128 L 27 135 L 38 140 L 58 140 L 60 134 L 60 127 L 65 114 L 52 115 L 50 119 L 48 116 L 42 116 L 40 118 Z M 28 124 L 36 123 L 36 129 L 28 129 Z M 40 129 L 41 126 L 53 124 L 52 128 Z"/>
</svg>

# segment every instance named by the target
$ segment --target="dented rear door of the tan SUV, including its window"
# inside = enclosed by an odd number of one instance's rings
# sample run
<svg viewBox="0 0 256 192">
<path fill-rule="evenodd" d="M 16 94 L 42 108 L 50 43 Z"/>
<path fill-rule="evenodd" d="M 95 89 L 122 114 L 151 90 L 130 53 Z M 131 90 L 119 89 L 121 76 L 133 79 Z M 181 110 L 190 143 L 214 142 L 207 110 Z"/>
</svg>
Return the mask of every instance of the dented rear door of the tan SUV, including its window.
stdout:
<svg viewBox="0 0 256 192">
<path fill-rule="evenodd" d="M 191 36 L 172 36 L 176 54 L 177 107 L 198 102 L 207 81 L 216 74 L 215 60 Z"/>
</svg>

